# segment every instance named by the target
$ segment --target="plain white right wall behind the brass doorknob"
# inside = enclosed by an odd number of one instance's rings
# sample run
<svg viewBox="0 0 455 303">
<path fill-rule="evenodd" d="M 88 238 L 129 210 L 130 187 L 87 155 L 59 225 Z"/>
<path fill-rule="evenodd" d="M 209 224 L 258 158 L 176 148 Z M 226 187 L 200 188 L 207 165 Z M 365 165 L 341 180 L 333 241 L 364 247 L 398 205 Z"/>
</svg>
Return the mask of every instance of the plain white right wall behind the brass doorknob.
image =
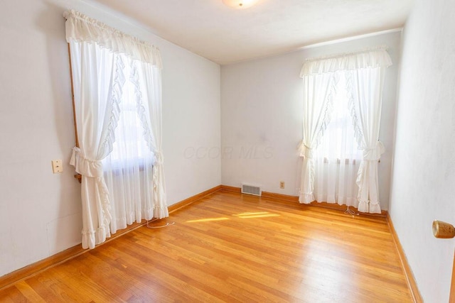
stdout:
<svg viewBox="0 0 455 303">
<path fill-rule="evenodd" d="M 424 302 L 448 302 L 455 224 L 455 2 L 418 0 L 403 35 L 390 216 Z"/>
</svg>

